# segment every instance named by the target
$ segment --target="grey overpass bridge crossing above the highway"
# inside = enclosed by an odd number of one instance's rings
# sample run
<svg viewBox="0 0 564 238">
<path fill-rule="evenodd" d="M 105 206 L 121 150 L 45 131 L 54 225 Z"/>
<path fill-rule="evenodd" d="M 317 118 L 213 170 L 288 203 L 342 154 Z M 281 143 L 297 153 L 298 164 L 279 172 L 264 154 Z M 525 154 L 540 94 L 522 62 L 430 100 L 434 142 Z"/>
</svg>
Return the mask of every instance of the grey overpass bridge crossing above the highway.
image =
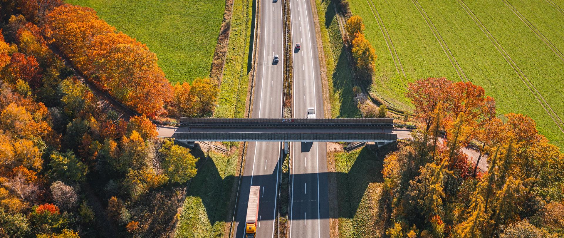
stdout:
<svg viewBox="0 0 564 238">
<path fill-rule="evenodd" d="M 158 136 L 180 142 L 394 142 L 392 118 L 186 118 L 159 126 Z"/>
</svg>

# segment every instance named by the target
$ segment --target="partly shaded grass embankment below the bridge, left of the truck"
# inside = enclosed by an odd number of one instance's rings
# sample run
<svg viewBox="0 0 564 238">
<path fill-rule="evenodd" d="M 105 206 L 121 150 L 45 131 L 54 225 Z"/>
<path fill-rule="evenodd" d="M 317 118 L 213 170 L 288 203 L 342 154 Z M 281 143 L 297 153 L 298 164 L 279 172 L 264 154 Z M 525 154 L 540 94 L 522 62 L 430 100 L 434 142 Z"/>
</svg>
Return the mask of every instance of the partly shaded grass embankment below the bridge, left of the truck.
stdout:
<svg viewBox="0 0 564 238">
<path fill-rule="evenodd" d="M 223 237 L 239 153 L 210 152 L 190 181 L 175 237 Z"/>
</svg>

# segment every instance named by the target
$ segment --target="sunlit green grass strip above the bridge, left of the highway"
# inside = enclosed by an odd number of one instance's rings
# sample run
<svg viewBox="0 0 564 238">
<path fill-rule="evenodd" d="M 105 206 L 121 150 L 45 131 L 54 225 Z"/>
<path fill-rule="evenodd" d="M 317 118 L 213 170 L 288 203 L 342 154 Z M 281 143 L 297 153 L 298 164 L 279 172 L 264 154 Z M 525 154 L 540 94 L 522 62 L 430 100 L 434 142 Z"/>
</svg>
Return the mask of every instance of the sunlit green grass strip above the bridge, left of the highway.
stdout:
<svg viewBox="0 0 564 238">
<path fill-rule="evenodd" d="M 235 0 L 218 107 L 214 117 L 244 117 L 250 72 L 248 60 L 252 21 L 253 0 Z"/>
</svg>

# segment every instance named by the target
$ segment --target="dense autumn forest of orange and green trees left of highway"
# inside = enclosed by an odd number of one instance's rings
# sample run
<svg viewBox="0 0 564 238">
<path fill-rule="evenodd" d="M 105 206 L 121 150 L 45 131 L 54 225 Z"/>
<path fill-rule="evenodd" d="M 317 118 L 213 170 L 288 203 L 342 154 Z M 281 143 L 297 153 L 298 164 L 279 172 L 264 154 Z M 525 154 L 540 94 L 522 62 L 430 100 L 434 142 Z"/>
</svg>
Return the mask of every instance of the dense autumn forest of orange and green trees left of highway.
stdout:
<svg viewBox="0 0 564 238">
<path fill-rule="evenodd" d="M 209 116 L 215 82 L 170 85 L 90 8 L 1 1 L 0 17 L 0 236 L 168 236 L 198 158 L 153 120 Z"/>
</svg>

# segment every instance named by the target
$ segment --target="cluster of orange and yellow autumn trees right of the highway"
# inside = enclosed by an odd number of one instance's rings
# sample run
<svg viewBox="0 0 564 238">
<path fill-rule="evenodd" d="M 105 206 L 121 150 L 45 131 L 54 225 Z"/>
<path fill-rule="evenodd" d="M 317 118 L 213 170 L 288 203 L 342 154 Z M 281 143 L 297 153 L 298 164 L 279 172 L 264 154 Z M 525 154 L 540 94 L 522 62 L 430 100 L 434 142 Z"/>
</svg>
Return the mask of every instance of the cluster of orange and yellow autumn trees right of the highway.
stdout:
<svg viewBox="0 0 564 238">
<path fill-rule="evenodd" d="M 418 129 L 384 159 L 389 237 L 564 237 L 564 155 L 472 82 L 408 85 Z M 472 145 L 479 171 L 461 148 Z"/>
</svg>

